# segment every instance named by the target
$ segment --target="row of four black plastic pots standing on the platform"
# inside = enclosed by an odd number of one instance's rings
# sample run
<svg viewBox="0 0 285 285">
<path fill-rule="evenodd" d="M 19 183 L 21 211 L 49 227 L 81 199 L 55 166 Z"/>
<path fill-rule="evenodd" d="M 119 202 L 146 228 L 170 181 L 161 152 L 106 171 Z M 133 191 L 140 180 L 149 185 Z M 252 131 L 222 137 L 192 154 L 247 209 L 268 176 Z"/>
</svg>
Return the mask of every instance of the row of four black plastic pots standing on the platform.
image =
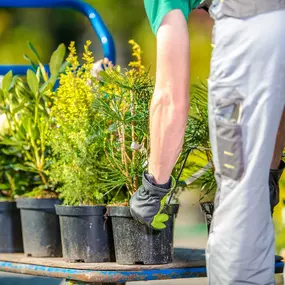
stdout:
<svg viewBox="0 0 285 285">
<path fill-rule="evenodd" d="M 171 209 L 166 229 L 154 231 L 136 222 L 128 207 L 62 206 L 56 199 L 3 202 L 0 252 L 24 250 L 27 256 L 63 256 L 69 262 L 170 263 L 178 205 Z"/>
</svg>

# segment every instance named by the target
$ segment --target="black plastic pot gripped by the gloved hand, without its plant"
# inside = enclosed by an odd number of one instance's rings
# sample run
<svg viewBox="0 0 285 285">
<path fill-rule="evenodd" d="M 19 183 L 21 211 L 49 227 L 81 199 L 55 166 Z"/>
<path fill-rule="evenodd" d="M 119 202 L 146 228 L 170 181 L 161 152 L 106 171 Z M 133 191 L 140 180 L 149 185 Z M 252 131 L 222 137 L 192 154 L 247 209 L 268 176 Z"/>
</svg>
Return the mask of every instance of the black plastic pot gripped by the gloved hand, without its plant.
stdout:
<svg viewBox="0 0 285 285">
<path fill-rule="evenodd" d="M 173 229 L 178 205 L 172 205 L 167 227 L 149 229 L 135 221 L 129 207 L 108 207 L 118 264 L 167 264 L 173 260 Z"/>
</svg>

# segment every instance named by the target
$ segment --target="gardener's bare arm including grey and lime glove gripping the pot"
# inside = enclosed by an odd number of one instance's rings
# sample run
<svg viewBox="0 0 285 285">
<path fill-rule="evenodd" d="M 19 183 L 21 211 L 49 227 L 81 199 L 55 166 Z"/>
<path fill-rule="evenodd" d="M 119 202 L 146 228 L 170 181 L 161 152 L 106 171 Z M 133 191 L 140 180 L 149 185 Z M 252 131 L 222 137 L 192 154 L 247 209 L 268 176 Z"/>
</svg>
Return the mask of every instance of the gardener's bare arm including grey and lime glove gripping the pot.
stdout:
<svg viewBox="0 0 285 285">
<path fill-rule="evenodd" d="M 148 173 L 152 177 L 143 173 L 142 185 L 130 200 L 132 216 L 151 228 L 166 227 L 168 217 L 160 215 L 161 203 L 171 190 L 170 175 L 183 144 L 188 112 L 188 27 L 185 15 L 174 9 L 157 31 L 156 84 L 150 107 Z"/>
</svg>

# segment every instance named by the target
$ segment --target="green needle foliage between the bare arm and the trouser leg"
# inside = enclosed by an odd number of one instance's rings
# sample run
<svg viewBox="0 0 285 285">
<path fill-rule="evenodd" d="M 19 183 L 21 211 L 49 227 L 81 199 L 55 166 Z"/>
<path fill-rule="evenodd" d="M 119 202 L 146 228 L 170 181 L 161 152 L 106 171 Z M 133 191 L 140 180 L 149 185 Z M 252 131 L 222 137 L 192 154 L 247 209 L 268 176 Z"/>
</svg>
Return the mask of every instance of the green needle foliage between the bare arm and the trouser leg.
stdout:
<svg viewBox="0 0 285 285">
<path fill-rule="evenodd" d="M 185 180 L 192 176 L 196 179 L 191 185 L 190 189 L 200 190 L 201 200 L 213 200 L 216 192 L 216 180 L 214 176 L 214 166 L 212 151 L 209 138 L 209 125 L 208 125 L 208 87 L 204 82 L 195 84 L 191 87 L 191 110 L 188 118 L 184 146 L 181 156 L 175 167 L 177 170 L 181 169 L 183 162 L 183 172 L 181 180 Z M 201 176 L 195 177 L 200 169 L 210 163 L 210 168 Z M 186 189 L 185 184 L 182 188 Z M 177 188 L 178 191 L 181 187 Z"/>
</svg>

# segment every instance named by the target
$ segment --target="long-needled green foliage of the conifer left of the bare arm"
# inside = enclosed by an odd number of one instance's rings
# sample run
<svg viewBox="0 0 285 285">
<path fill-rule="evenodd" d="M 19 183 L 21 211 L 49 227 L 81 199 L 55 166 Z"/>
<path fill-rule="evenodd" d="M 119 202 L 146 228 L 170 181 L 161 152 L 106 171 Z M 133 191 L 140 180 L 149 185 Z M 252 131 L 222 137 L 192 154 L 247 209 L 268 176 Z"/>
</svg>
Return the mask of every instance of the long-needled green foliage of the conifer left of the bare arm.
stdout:
<svg viewBox="0 0 285 285">
<path fill-rule="evenodd" d="M 105 159 L 99 165 L 99 185 L 110 203 L 128 201 L 141 184 L 149 152 L 149 105 L 154 81 L 133 40 L 129 70 L 109 67 L 100 73 L 102 86 L 93 103 L 100 122 Z"/>
</svg>

